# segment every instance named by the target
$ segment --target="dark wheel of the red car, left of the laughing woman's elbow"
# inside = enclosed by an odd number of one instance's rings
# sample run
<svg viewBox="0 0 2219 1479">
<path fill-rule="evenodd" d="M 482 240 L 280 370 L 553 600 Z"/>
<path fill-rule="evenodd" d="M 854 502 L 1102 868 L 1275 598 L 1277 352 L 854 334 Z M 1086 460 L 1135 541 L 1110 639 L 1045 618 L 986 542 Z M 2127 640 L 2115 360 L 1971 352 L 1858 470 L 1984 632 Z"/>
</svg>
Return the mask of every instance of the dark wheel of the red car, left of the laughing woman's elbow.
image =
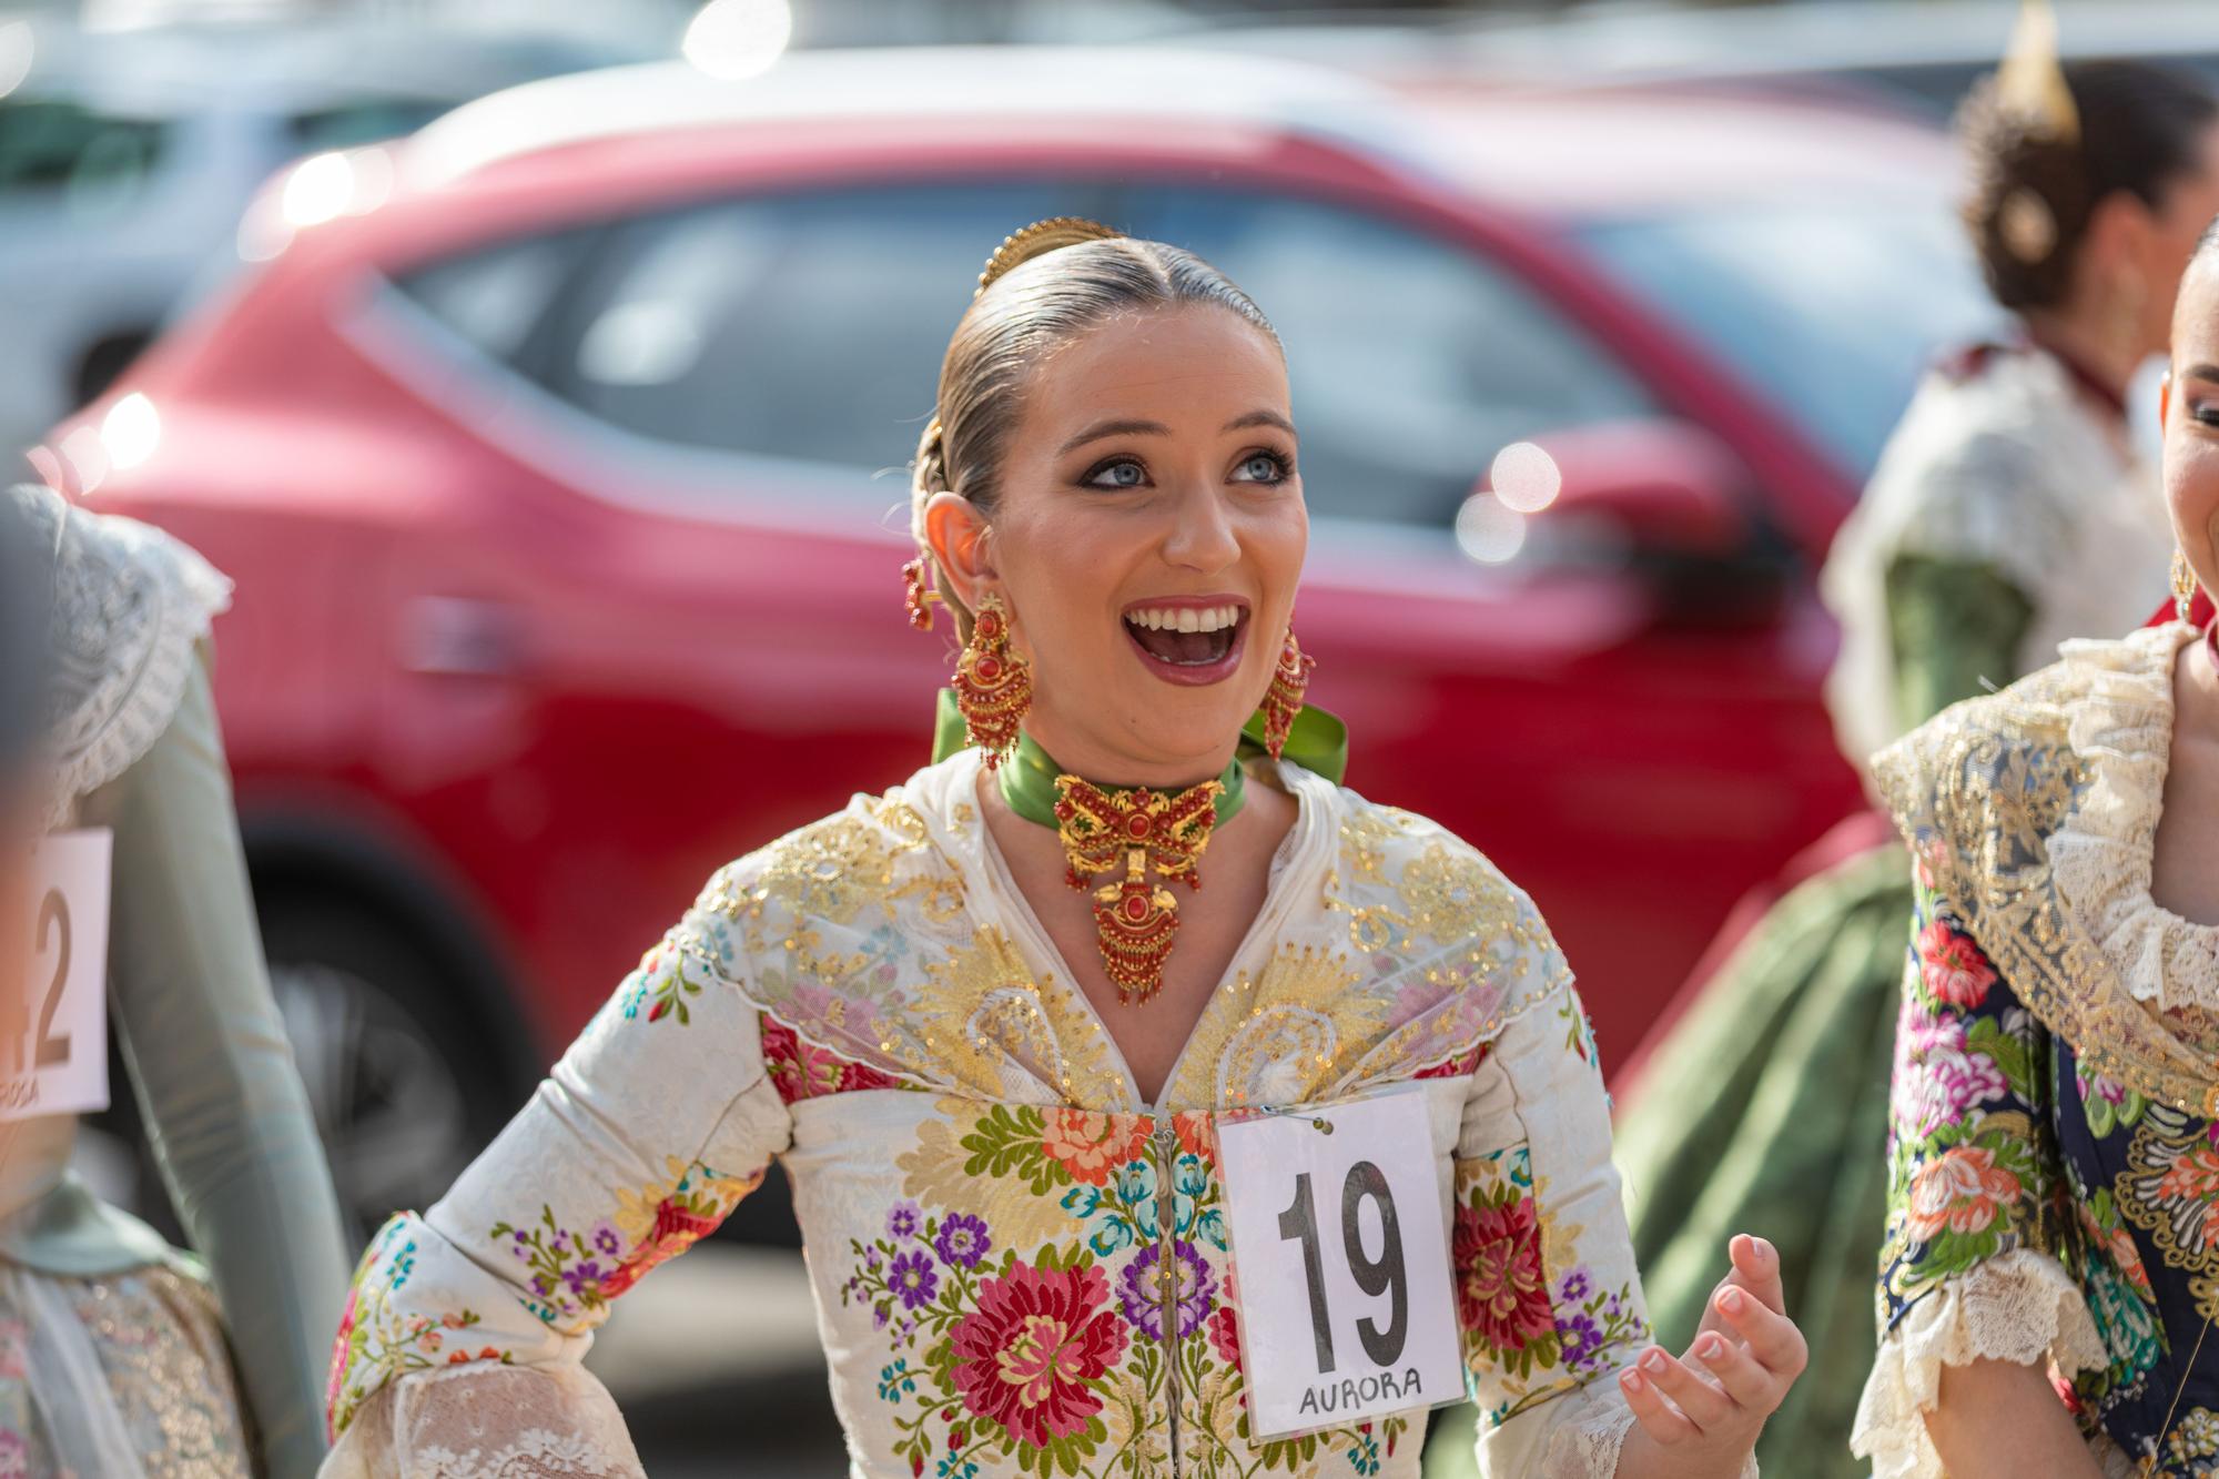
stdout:
<svg viewBox="0 0 2219 1479">
<path fill-rule="evenodd" d="M 439 966 L 382 922 L 273 902 L 271 988 L 353 1241 L 437 1201 L 515 1110 Z"/>
</svg>

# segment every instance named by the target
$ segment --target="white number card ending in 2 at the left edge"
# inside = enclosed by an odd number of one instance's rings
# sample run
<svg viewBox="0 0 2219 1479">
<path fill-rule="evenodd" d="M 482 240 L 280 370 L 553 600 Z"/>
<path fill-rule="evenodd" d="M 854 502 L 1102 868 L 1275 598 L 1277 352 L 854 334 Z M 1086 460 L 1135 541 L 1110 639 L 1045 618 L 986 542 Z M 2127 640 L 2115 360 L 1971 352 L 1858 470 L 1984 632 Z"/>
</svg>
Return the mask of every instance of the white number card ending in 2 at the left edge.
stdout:
<svg viewBox="0 0 2219 1479">
<path fill-rule="evenodd" d="M 60 833 L 31 868 L 31 968 L 0 997 L 0 1119 L 109 1106 L 111 833 Z"/>
</svg>

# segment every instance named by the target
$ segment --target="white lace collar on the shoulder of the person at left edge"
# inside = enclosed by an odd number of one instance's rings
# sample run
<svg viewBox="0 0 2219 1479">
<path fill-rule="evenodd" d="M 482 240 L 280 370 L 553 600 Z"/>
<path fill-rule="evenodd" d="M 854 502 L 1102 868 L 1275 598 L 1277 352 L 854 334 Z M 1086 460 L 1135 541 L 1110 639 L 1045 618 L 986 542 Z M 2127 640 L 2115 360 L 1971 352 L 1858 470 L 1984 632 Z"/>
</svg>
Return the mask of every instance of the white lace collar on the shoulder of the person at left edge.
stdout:
<svg viewBox="0 0 2219 1479">
<path fill-rule="evenodd" d="M 51 489 L 27 484 L 0 497 L 13 500 L 53 551 L 51 831 L 169 728 L 193 648 L 231 604 L 231 582 L 166 533 L 89 513 Z"/>
</svg>

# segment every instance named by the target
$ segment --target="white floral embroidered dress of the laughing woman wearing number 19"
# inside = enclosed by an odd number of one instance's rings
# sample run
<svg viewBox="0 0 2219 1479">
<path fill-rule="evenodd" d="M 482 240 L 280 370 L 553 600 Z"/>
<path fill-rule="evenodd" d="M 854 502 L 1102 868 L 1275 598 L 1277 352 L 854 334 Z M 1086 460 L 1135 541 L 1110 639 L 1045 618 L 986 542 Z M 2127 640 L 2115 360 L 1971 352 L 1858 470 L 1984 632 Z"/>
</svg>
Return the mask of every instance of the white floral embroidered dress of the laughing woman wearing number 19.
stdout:
<svg viewBox="0 0 2219 1479">
<path fill-rule="evenodd" d="M 579 1357 L 772 1157 L 863 1479 L 1416 1475 L 1422 1412 L 1249 1437 L 1216 1155 L 1227 1113 L 1411 1084 L 1485 1472 L 1611 1475 L 1646 1326 L 1562 955 L 1431 822 L 1254 775 L 1298 822 L 1156 1106 L 994 851 L 976 753 L 717 873 L 446 1199 L 377 1235 L 326 1475 L 639 1472 Z"/>
</svg>

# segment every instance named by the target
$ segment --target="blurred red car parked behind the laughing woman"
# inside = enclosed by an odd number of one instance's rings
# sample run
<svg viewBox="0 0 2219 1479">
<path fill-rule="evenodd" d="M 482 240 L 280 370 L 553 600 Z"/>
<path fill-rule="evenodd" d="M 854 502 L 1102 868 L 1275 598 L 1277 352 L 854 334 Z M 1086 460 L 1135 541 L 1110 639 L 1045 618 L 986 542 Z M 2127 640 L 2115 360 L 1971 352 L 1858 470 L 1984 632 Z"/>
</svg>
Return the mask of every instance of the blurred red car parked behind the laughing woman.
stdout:
<svg viewBox="0 0 2219 1479">
<path fill-rule="evenodd" d="M 1946 184 L 1922 127 L 1700 93 L 624 69 L 275 182 L 266 264 L 44 466 L 237 580 L 255 886 L 373 1215 L 717 864 L 925 759 L 952 653 L 901 620 L 905 462 L 985 253 L 1058 213 L 1181 242 L 1287 342 L 1349 782 L 1529 886 L 1624 1053 L 1857 799 L 1813 569 L 1984 313 Z"/>
</svg>

